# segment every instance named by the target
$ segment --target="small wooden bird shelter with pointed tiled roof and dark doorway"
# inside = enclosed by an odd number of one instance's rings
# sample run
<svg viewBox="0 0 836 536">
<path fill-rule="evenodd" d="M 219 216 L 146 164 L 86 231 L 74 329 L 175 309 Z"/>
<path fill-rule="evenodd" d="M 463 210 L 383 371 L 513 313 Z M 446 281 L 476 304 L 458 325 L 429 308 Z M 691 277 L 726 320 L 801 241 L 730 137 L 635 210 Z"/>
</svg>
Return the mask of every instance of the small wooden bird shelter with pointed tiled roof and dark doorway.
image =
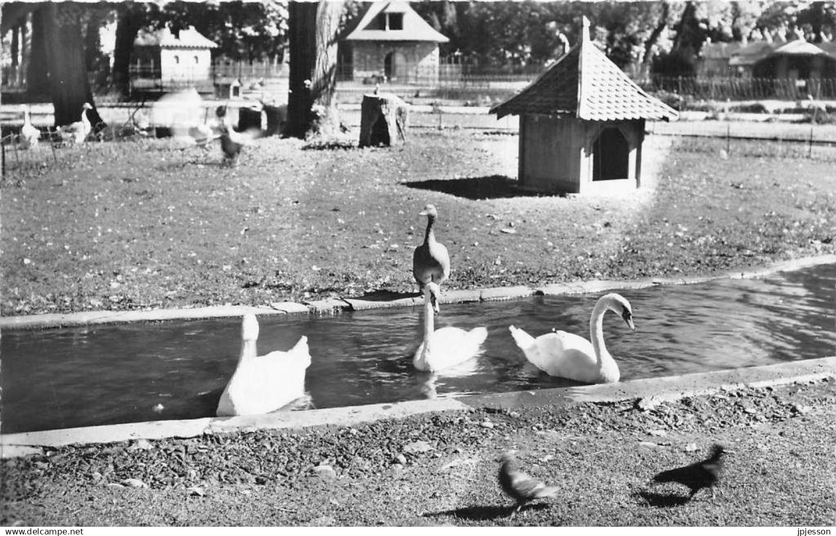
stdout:
<svg viewBox="0 0 836 536">
<path fill-rule="evenodd" d="M 679 116 L 595 48 L 585 17 L 580 42 L 491 113 L 520 116 L 521 187 L 579 194 L 638 188 L 645 120 Z"/>
</svg>

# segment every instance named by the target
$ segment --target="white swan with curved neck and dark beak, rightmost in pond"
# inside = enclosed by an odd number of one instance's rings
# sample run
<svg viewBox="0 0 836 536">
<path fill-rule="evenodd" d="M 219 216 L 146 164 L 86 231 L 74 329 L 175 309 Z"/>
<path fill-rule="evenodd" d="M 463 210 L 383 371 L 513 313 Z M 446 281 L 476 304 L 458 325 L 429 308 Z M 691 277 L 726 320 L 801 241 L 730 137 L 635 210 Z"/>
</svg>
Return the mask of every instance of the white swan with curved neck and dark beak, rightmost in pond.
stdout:
<svg viewBox="0 0 836 536">
<path fill-rule="evenodd" d="M 618 314 L 631 330 L 635 329 L 630 302 L 615 293 L 601 296 L 595 303 L 589 319 L 592 342 L 566 331 L 547 333 L 535 339 L 514 326 L 508 329 L 526 359 L 549 376 L 585 383 L 614 383 L 619 381 L 620 373 L 618 364 L 604 345 L 606 311 Z"/>
</svg>

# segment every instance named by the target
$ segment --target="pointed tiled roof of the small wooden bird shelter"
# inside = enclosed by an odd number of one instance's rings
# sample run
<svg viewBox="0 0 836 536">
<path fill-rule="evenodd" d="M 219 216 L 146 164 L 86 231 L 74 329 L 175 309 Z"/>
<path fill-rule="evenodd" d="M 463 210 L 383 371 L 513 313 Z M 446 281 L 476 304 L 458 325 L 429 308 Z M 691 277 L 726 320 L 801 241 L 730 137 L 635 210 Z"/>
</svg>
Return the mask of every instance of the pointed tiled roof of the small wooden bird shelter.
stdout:
<svg viewBox="0 0 836 536">
<path fill-rule="evenodd" d="M 491 109 L 508 114 L 568 114 L 589 121 L 677 119 L 679 114 L 637 86 L 589 41 L 584 17 L 580 43 L 521 92 Z"/>
</svg>

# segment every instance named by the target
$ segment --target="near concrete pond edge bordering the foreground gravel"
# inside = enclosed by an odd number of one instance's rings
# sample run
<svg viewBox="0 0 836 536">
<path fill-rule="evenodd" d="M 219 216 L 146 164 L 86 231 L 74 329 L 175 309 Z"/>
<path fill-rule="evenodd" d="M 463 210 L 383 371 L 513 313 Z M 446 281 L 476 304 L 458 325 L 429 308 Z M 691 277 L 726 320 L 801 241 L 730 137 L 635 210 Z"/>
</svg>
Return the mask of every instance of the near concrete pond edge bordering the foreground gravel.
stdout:
<svg viewBox="0 0 836 536">
<path fill-rule="evenodd" d="M 568 407 L 584 402 L 619 402 L 638 399 L 639 407 L 648 410 L 662 402 L 675 401 L 683 397 L 736 390 L 742 387 L 770 387 L 793 382 L 816 382 L 831 377 L 836 377 L 836 356 L 759 367 L 644 378 L 611 384 L 556 387 L 536 391 L 503 392 L 305 411 L 280 411 L 263 415 L 202 417 L 190 420 L 132 422 L 10 433 L 0 435 L 0 451 L 2 451 L 3 458 L 16 458 L 43 453 L 44 448 L 57 448 L 72 444 L 167 437 L 186 438 L 223 432 L 328 425 L 353 426 L 364 422 L 398 419 L 426 412 L 471 411 L 486 407 L 497 410 L 547 405 Z"/>
</svg>

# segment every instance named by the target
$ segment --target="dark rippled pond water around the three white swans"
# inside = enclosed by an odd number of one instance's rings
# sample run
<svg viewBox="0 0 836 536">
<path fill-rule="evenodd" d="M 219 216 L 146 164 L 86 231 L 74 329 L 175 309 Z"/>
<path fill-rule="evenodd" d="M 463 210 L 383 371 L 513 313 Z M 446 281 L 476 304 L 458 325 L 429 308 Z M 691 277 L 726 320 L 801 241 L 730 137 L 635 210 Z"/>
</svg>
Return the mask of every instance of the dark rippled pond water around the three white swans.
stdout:
<svg viewBox="0 0 836 536">
<path fill-rule="evenodd" d="M 619 291 L 636 330 L 604 318 L 622 380 L 836 355 L 836 265 L 764 279 Z M 416 372 L 422 307 L 338 316 L 261 316 L 259 354 L 307 335 L 304 407 L 342 407 L 562 387 L 528 365 L 507 326 L 589 336 L 600 294 L 441 307 L 436 328 L 487 326 L 480 356 L 451 372 Z M 5 331 L 2 432 L 212 416 L 240 351 L 239 318 Z"/>
</svg>

